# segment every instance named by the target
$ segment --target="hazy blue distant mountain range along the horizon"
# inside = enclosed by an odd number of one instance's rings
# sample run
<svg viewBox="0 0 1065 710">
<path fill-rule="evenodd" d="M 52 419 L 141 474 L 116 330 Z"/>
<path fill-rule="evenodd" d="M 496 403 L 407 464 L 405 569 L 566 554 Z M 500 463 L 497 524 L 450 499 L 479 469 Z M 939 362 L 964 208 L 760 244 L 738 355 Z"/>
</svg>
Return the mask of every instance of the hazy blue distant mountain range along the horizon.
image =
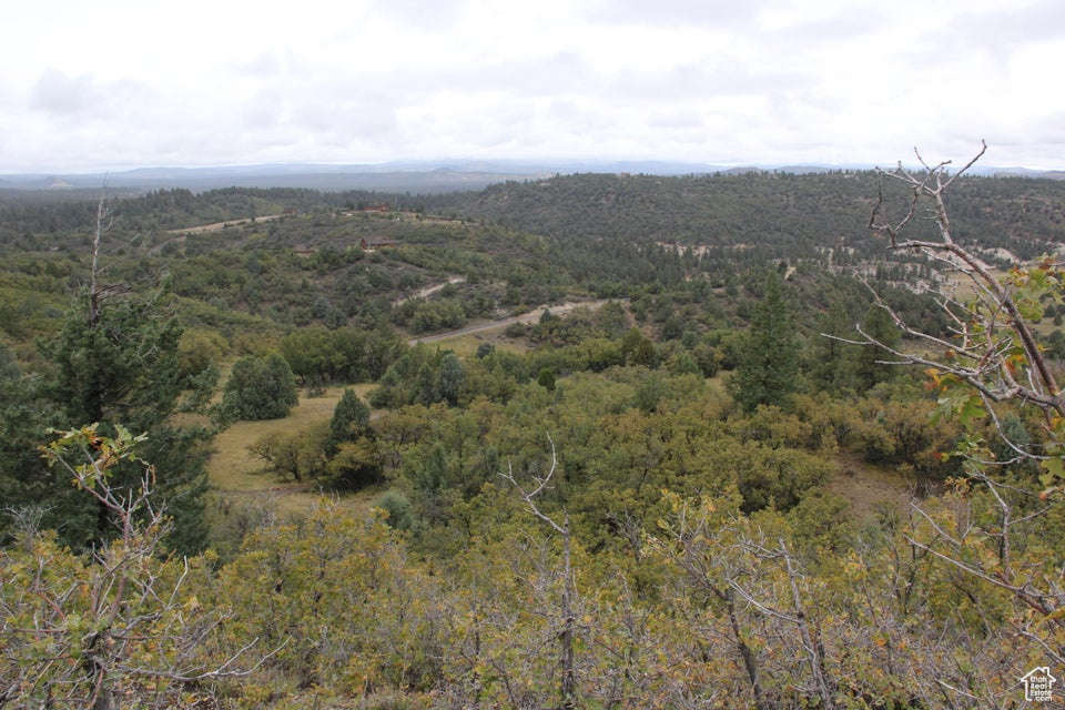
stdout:
<svg viewBox="0 0 1065 710">
<path fill-rule="evenodd" d="M 186 187 L 306 187 L 321 191 L 376 190 L 382 192 L 440 193 L 481 190 L 507 180 L 541 180 L 555 174 L 631 173 L 687 175 L 780 171 L 821 173 L 869 170 L 872 165 L 711 165 L 667 161 L 602 161 L 536 163 L 529 161 L 438 161 L 362 165 L 282 163 L 221 168 L 139 168 L 113 173 L 0 175 L 0 190 L 94 190 L 106 184 L 122 190 Z M 1017 175 L 1065 180 L 1065 171 L 1024 168 L 974 168 L 974 174 Z"/>
</svg>

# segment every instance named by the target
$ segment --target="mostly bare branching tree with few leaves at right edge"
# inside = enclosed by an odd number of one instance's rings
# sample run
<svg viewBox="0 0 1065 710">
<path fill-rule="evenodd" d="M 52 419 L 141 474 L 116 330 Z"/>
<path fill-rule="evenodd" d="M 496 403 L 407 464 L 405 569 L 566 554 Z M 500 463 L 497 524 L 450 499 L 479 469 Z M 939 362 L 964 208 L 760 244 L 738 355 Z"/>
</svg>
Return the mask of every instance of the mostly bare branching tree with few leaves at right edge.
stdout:
<svg viewBox="0 0 1065 710">
<path fill-rule="evenodd" d="M 1053 560 L 1046 560 L 1049 565 L 1042 566 L 1041 571 L 1032 569 L 1031 559 L 1024 569 L 1018 569 L 1013 557 L 1017 549 L 1014 538 L 1023 526 L 1063 503 L 1065 395 L 1032 321 L 1042 313 L 1042 301 L 1065 301 L 1065 270 L 1061 262 L 1044 256 L 998 277 L 974 248 L 956 239 L 945 195 L 986 150 L 986 143 L 981 142 L 976 155 L 953 174 L 949 173 L 950 161 L 931 164 L 920 152 L 916 152 L 920 171 L 907 171 L 901 164 L 893 171 L 881 171 L 881 190 L 870 215 L 869 229 L 883 235 L 889 248 L 924 254 L 960 281 L 943 281 L 933 291 L 949 318 L 949 334 L 927 334 L 911 326 L 873 292 L 876 305 L 890 314 L 902 333 L 929 346 L 931 354 L 891 347 L 861 327 L 858 337 L 848 342 L 883 348 L 894 364 L 925 368 L 941 404 L 971 429 L 966 448 L 961 452 L 965 456 L 965 468 L 971 480 L 990 491 L 991 506 L 997 511 L 995 525 L 973 530 L 960 520 L 952 527 L 949 518 L 932 515 L 914 504 L 916 519 L 927 532 L 906 535 L 906 539 L 922 554 L 1012 594 L 1041 619 L 1017 626 L 1016 632 L 1062 662 L 1065 657 L 1062 571 L 1053 567 Z M 885 214 L 885 181 L 901 183 L 910 191 L 906 209 L 895 219 Z M 922 220 L 933 226 L 932 236 L 910 236 Z M 1003 414 L 1033 407 L 1041 415 L 1042 436 L 1034 443 L 1015 440 L 1003 426 Z M 985 426 L 990 426 L 1004 445 L 1007 460 L 996 459 L 983 440 L 978 429 Z M 1042 490 L 1007 484 L 994 474 L 997 466 L 1022 462 L 1033 462 L 1042 468 Z M 1023 508 L 1018 509 L 1021 504 Z M 993 562 L 971 554 L 975 545 L 987 546 L 980 539 L 993 545 Z"/>
</svg>

